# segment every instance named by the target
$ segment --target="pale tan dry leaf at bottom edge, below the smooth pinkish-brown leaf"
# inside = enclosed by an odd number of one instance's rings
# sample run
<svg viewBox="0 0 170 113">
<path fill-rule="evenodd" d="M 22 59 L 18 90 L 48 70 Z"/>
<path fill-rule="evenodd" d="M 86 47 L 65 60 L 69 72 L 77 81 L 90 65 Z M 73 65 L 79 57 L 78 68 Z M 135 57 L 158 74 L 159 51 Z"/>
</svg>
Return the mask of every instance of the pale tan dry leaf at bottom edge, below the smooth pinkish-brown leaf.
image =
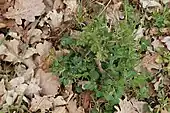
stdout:
<svg viewBox="0 0 170 113">
<path fill-rule="evenodd" d="M 41 110 L 41 113 L 45 113 L 46 110 L 49 110 L 52 107 L 52 102 L 49 101 L 47 96 L 40 97 L 35 95 L 35 97 L 31 101 L 30 111 L 36 112 L 37 110 Z"/>
</svg>

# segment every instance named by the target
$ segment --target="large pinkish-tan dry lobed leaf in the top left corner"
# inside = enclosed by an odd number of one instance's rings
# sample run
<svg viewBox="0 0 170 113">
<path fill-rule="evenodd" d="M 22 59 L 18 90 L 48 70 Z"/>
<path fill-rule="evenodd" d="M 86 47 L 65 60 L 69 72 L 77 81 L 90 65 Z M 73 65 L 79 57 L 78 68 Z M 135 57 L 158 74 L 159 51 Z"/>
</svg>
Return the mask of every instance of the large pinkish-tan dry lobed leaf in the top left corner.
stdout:
<svg viewBox="0 0 170 113">
<path fill-rule="evenodd" d="M 4 16 L 9 19 L 15 19 L 16 23 L 21 25 L 21 19 L 34 22 L 35 16 L 40 16 L 44 8 L 43 0 L 16 0 L 14 8 L 10 7 Z"/>
</svg>

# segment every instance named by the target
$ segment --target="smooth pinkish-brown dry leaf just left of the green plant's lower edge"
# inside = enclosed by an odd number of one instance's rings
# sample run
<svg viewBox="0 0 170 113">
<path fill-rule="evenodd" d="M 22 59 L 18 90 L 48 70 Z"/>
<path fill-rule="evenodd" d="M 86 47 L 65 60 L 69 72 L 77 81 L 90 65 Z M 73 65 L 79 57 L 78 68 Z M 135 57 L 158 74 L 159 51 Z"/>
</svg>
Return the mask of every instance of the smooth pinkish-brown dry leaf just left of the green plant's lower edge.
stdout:
<svg viewBox="0 0 170 113">
<path fill-rule="evenodd" d="M 42 69 L 39 69 L 36 73 L 36 77 L 40 78 L 40 88 L 42 88 L 42 94 L 44 95 L 56 95 L 60 87 L 59 78 L 52 73 L 45 73 Z"/>
</svg>

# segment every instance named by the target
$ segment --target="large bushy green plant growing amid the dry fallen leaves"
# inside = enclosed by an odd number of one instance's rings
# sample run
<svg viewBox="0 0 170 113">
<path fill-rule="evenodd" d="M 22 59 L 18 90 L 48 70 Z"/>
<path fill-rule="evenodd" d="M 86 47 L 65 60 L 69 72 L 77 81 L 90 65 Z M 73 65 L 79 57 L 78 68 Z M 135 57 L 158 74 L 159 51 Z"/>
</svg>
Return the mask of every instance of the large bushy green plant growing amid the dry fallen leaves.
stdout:
<svg viewBox="0 0 170 113">
<path fill-rule="evenodd" d="M 84 88 L 94 91 L 95 99 L 107 100 L 104 113 L 113 112 L 113 106 L 127 89 L 140 93 L 147 90 L 147 78 L 134 70 L 140 59 L 134 41 L 139 20 L 134 18 L 134 10 L 127 3 L 125 12 L 126 19 L 114 31 L 108 32 L 106 20 L 100 17 L 84 27 L 76 39 L 62 38 L 62 47 L 70 49 L 70 53 L 57 58 L 52 66 L 64 85 L 88 80 Z"/>
</svg>

